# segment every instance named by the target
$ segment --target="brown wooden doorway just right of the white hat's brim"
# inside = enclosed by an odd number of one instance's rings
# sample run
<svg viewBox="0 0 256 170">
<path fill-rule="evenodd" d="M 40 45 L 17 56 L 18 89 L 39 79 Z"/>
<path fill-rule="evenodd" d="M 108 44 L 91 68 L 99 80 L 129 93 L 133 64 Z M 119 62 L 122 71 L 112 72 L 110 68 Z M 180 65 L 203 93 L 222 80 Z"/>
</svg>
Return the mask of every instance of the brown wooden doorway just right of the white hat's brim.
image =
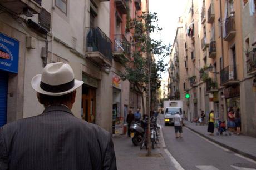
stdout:
<svg viewBox="0 0 256 170">
<path fill-rule="evenodd" d="M 83 84 L 82 86 L 82 119 L 95 123 L 96 89 Z"/>
</svg>

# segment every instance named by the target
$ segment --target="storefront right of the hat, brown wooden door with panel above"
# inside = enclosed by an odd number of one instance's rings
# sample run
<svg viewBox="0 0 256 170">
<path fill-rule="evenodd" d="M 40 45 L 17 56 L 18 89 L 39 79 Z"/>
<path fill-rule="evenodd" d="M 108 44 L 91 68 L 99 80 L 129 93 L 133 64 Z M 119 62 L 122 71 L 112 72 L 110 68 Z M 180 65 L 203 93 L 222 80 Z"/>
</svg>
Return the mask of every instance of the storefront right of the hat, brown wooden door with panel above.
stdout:
<svg viewBox="0 0 256 170">
<path fill-rule="evenodd" d="M 81 117 L 87 122 L 95 123 L 96 89 L 99 87 L 99 82 L 85 74 L 82 79 L 84 84 L 82 86 Z"/>
</svg>

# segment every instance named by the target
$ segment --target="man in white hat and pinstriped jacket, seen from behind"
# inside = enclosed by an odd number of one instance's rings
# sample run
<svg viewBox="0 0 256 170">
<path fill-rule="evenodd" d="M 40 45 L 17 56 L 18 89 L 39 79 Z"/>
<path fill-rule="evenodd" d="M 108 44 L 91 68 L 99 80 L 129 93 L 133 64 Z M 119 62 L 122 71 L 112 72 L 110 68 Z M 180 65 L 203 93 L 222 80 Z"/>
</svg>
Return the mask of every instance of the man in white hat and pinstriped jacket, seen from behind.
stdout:
<svg viewBox="0 0 256 170">
<path fill-rule="evenodd" d="M 31 84 L 45 111 L 0 128 L 0 169 L 116 169 L 111 134 L 71 112 L 83 82 L 70 65 L 47 64 Z"/>
</svg>

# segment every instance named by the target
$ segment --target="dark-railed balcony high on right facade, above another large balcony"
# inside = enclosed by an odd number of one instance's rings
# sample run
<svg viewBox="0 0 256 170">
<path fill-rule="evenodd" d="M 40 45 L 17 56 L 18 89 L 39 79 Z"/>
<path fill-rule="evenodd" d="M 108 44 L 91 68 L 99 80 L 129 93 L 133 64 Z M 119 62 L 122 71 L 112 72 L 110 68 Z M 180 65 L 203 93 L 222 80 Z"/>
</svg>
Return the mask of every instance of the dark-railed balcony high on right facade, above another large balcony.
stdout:
<svg viewBox="0 0 256 170">
<path fill-rule="evenodd" d="M 226 36 L 224 38 L 225 41 L 230 41 L 235 37 L 235 16 L 234 13 L 232 16 L 228 17 L 225 22 L 225 33 Z"/>
</svg>

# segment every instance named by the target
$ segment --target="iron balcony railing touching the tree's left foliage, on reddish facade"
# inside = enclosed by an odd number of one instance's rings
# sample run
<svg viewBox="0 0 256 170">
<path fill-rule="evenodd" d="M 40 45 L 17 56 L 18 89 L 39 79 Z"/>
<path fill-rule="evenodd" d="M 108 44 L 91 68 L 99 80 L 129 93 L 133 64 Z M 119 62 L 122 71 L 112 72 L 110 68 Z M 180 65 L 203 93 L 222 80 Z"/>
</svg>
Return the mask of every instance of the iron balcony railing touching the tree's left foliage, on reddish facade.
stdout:
<svg viewBox="0 0 256 170">
<path fill-rule="evenodd" d="M 124 52 L 124 54 L 130 57 L 130 52 L 131 52 L 130 43 L 127 41 L 127 39 L 123 34 L 115 35 L 114 51 Z"/>
</svg>

